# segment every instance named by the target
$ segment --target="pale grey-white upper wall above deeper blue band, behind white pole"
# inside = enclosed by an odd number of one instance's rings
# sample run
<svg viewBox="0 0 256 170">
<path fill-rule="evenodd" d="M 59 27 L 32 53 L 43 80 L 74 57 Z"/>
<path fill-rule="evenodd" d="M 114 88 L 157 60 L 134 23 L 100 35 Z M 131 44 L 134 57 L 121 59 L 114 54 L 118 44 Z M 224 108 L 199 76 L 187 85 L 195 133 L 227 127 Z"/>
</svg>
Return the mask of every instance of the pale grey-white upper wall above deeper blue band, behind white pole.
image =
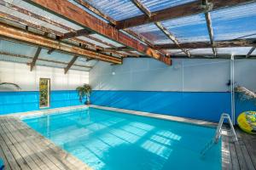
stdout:
<svg viewBox="0 0 256 170">
<path fill-rule="evenodd" d="M 226 92 L 229 59 L 172 59 L 168 66 L 155 59 L 125 59 L 123 65 L 99 62 L 90 71 L 96 90 Z M 236 82 L 256 89 L 256 60 L 236 60 Z"/>
</svg>

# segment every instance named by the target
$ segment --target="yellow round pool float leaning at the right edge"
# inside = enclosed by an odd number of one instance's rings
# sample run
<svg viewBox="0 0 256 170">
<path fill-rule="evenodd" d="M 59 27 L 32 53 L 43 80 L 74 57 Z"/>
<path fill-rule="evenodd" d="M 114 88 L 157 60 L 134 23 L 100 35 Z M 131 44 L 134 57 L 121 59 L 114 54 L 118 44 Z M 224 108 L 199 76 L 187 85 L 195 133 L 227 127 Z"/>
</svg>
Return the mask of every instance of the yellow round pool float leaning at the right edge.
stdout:
<svg viewBox="0 0 256 170">
<path fill-rule="evenodd" d="M 245 111 L 242 112 L 237 122 L 239 127 L 246 133 L 256 134 L 256 111 Z"/>
</svg>

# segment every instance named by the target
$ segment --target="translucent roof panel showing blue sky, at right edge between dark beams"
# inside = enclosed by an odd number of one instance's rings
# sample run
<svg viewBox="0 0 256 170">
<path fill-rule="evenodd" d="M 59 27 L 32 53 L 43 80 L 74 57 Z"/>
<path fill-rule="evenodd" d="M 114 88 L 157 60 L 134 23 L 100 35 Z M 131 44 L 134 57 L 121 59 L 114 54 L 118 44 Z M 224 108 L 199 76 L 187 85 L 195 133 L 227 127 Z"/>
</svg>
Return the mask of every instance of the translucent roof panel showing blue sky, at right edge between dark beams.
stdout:
<svg viewBox="0 0 256 170">
<path fill-rule="evenodd" d="M 224 8 L 211 14 L 215 40 L 256 37 L 256 3 Z"/>
</svg>

